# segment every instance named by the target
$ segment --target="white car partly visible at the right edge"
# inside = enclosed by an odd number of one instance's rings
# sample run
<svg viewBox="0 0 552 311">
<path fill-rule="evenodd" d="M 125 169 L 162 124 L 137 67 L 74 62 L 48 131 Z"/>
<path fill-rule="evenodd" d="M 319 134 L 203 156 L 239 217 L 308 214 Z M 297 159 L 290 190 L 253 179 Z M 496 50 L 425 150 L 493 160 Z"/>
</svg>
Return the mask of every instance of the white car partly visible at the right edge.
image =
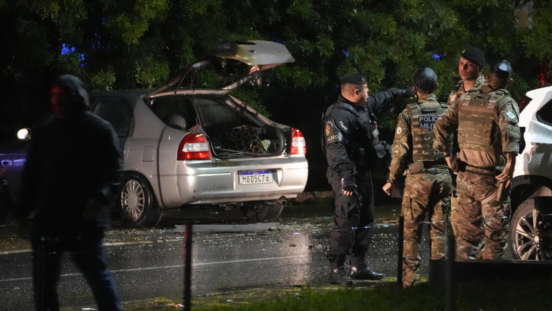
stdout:
<svg viewBox="0 0 552 311">
<path fill-rule="evenodd" d="M 516 157 L 509 242 L 514 259 L 552 260 L 552 86 L 527 97 L 519 115 L 526 145 Z"/>
</svg>

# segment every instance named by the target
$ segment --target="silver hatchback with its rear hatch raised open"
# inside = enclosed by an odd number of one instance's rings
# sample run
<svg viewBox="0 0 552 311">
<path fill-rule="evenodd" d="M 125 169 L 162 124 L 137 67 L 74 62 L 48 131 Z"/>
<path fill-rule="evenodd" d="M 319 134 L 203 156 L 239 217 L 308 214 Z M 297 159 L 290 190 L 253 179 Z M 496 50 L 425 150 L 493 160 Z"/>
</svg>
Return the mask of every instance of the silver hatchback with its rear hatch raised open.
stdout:
<svg viewBox="0 0 552 311">
<path fill-rule="evenodd" d="M 241 208 L 254 220 L 277 218 L 285 200 L 295 198 L 307 182 L 304 136 L 229 93 L 243 83 L 260 82 L 261 73 L 268 72 L 264 68 L 292 61 L 282 44 L 226 44 L 147 95 L 91 93 L 91 111 L 114 126 L 124 150 L 125 179 L 115 205 L 126 225 L 154 226 L 165 208 L 206 203 Z M 214 76 L 204 68 L 219 75 L 237 71 L 237 64 L 246 67 L 245 75 L 228 85 L 197 85 L 196 77 Z M 19 182 L 15 170 L 25 155 L 18 152 L 14 156 L 0 149 L 12 197 Z"/>
</svg>

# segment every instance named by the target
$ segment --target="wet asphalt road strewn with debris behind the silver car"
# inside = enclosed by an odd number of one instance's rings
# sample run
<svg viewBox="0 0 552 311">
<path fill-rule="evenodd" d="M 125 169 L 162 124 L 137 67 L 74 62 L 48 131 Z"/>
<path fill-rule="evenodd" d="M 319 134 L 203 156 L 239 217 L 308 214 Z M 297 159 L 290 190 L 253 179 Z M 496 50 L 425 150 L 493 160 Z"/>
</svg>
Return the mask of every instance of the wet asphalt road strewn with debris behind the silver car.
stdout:
<svg viewBox="0 0 552 311">
<path fill-rule="evenodd" d="M 394 204 L 379 213 L 367 258 L 371 267 L 390 278 L 396 278 L 397 267 L 398 226 L 388 222 L 398 217 Z M 203 213 L 203 218 L 190 215 L 187 210 L 175 211 L 165 215 L 156 229 L 131 230 L 115 225 L 107 233 L 108 264 L 122 301 L 183 296 L 184 242 L 182 232 L 174 225 L 190 219 L 194 224 L 248 225 L 235 212 L 220 209 L 199 212 Z M 287 211 L 284 208 L 278 224 L 261 233 L 195 233 L 193 296 L 327 283 L 325 254 L 331 213 L 328 207 L 291 207 Z M 10 235 L 11 228 L 2 230 L 4 235 Z M 427 243 L 423 245 L 422 274 L 427 275 Z M 25 249 L 24 245 L 16 248 Z M 17 252 L 12 247 L 0 253 L 0 267 L 0 301 L 3 302 L 0 310 L 32 309 L 30 252 Z M 95 307 L 86 282 L 67 257 L 59 293 L 62 307 Z"/>
</svg>

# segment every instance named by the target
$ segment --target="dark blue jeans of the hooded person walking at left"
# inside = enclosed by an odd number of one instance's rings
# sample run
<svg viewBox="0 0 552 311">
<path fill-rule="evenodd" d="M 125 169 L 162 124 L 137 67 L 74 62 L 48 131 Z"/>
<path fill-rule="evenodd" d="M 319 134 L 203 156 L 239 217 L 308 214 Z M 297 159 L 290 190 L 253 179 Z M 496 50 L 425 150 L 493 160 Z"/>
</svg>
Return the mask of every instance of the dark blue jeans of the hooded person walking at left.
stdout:
<svg viewBox="0 0 552 311">
<path fill-rule="evenodd" d="M 31 242 L 36 310 L 59 310 L 56 288 L 61 259 L 66 252 L 92 288 L 98 310 L 121 309 L 115 282 L 105 262 L 102 240 L 103 228 L 98 226 L 84 225 L 76 230 L 59 225 L 35 226 Z"/>
</svg>

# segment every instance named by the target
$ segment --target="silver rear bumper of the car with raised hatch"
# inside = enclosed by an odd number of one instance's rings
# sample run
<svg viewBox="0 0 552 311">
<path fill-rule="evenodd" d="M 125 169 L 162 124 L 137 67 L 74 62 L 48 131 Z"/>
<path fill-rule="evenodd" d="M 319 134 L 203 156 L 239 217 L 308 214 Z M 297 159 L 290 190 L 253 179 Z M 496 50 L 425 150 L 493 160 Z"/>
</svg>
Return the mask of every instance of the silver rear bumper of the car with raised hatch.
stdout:
<svg viewBox="0 0 552 311">
<path fill-rule="evenodd" d="M 182 173 L 161 176 L 163 204 L 171 208 L 183 204 L 295 198 L 305 189 L 309 172 L 304 156 L 209 162 L 182 161 L 177 170 Z M 272 181 L 243 185 L 240 172 L 245 171 L 268 171 Z M 170 188 L 163 185 L 171 183 L 176 183 L 177 193 L 163 191 Z"/>
</svg>

